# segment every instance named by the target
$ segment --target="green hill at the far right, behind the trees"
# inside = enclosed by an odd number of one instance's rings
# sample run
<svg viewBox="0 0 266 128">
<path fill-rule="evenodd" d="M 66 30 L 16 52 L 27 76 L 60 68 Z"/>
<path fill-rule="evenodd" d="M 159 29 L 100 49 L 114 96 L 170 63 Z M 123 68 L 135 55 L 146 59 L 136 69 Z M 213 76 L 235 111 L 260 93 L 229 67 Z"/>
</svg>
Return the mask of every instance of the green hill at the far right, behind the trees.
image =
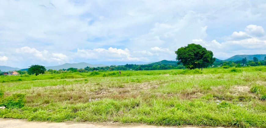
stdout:
<svg viewBox="0 0 266 128">
<path fill-rule="evenodd" d="M 249 60 L 253 60 L 253 57 L 257 57 L 259 60 L 264 60 L 264 57 L 266 56 L 266 54 L 257 54 L 257 55 L 235 55 L 232 56 L 228 59 L 226 59 L 227 61 L 237 61 L 237 60 L 242 60 L 243 58 L 246 57 L 247 61 Z"/>
</svg>

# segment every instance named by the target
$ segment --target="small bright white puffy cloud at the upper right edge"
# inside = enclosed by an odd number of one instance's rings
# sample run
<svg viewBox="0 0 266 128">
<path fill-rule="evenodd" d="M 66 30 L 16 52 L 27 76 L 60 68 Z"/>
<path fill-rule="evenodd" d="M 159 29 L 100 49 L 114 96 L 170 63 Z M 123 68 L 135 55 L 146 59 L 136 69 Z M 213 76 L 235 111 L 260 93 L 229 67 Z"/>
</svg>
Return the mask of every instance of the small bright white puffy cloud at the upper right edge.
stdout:
<svg viewBox="0 0 266 128">
<path fill-rule="evenodd" d="M 263 27 L 250 24 L 245 28 L 245 31 L 255 37 L 262 37 L 264 36 L 265 32 Z"/>
</svg>

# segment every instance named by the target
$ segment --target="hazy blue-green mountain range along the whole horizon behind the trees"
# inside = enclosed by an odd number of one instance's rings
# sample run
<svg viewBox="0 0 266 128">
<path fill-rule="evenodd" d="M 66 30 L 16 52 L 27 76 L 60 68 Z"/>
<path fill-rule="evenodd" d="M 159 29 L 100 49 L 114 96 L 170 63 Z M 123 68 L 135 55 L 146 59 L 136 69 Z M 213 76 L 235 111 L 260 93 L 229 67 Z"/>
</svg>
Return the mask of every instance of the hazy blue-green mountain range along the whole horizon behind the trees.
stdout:
<svg viewBox="0 0 266 128">
<path fill-rule="evenodd" d="M 264 57 L 266 56 L 266 54 L 257 54 L 257 55 L 235 55 L 232 56 L 228 59 L 225 60 L 221 60 L 221 59 L 217 59 L 216 58 L 216 62 L 219 61 L 237 61 L 237 60 L 242 60 L 243 58 L 246 57 L 247 61 L 249 60 L 253 60 L 253 57 L 257 57 L 259 60 L 264 60 Z M 164 63 L 168 63 L 171 65 L 175 65 L 176 61 L 167 61 L 167 60 L 163 60 L 163 61 L 159 61 L 159 62 L 150 62 L 150 63 L 145 63 L 145 62 L 134 62 L 134 64 L 164 64 Z M 124 63 L 123 63 L 124 64 Z M 122 65 L 122 64 L 120 64 Z M 53 70 L 59 70 L 59 69 L 68 69 L 68 68 L 85 68 L 85 67 L 104 67 L 104 66 L 110 66 L 110 65 L 105 65 L 105 64 L 89 64 L 89 63 L 85 63 L 85 62 L 81 62 L 81 63 L 65 63 L 63 65 L 59 65 L 59 66 L 47 66 L 45 67 L 47 70 L 48 69 L 53 69 Z M 13 68 L 13 67 L 9 67 L 9 66 L 0 66 L 0 70 L 3 72 L 7 72 L 7 71 L 14 71 L 14 70 L 20 70 L 19 68 Z M 27 70 L 27 69 L 22 69 L 22 70 Z"/>
</svg>

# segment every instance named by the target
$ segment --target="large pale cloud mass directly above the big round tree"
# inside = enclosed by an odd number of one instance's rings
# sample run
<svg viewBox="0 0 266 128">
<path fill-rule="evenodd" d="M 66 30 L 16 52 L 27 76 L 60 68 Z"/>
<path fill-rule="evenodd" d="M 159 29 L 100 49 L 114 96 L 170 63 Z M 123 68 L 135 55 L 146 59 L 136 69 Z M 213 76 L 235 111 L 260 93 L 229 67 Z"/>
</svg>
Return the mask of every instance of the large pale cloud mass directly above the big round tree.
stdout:
<svg viewBox="0 0 266 128">
<path fill-rule="evenodd" d="M 189 11 L 182 18 L 172 18 L 164 23 L 155 23 L 148 34 L 132 39 L 129 47 L 135 49 L 167 47 L 176 50 L 178 47 L 191 43 L 195 38 L 205 38 L 206 29 L 205 17 Z"/>
</svg>

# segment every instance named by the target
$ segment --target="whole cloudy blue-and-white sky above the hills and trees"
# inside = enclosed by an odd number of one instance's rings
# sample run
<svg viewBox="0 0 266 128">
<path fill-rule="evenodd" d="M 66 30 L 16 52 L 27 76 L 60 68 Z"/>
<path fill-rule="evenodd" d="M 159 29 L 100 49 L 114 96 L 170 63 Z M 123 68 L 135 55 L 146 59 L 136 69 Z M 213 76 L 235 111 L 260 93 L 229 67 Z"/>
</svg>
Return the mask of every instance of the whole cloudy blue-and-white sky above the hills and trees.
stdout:
<svg viewBox="0 0 266 128">
<path fill-rule="evenodd" d="M 264 29 L 264 0 L 1 0 L 0 66 L 175 60 L 191 43 L 266 54 Z"/>
</svg>

